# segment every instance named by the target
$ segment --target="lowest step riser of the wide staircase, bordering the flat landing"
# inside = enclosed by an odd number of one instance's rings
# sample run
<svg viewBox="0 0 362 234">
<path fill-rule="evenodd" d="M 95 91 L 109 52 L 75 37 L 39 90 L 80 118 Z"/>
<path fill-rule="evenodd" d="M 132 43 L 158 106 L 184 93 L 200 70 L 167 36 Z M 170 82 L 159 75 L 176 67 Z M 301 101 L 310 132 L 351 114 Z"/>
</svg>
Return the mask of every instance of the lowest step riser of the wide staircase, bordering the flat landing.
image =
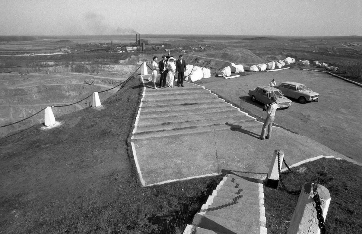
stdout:
<svg viewBox="0 0 362 234">
<path fill-rule="evenodd" d="M 221 131 L 230 129 L 230 126 L 226 124 L 222 125 L 209 125 L 209 126 L 202 126 L 202 127 L 189 127 L 189 128 L 176 128 L 172 131 L 160 131 L 160 132 L 148 132 L 142 134 L 134 134 L 132 136 L 132 140 L 143 140 L 143 139 L 150 139 L 155 137 L 169 137 L 169 136 L 176 136 L 176 135 L 187 135 L 187 134 L 194 134 L 194 133 L 202 133 L 202 132 L 211 132 L 211 131 Z"/>
</svg>

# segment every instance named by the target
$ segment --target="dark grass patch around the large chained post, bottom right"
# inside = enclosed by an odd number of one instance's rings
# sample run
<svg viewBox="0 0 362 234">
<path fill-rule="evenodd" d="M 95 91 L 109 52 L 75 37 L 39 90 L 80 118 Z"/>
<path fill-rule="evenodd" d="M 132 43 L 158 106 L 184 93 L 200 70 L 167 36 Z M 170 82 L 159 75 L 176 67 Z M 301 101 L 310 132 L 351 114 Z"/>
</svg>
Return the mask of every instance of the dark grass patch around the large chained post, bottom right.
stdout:
<svg viewBox="0 0 362 234">
<path fill-rule="evenodd" d="M 305 183 L 318 183 L 329 190 L 331 204 L 325 226 L 328 234 L 362 233 L 361 166 L 336 159 L 319 159 L 282 174 L 289 190 L 298 190 Z M 289 227 L 299 196 L 278 188 L 264 189 L 266 227 L 268 233 L 284 234 Z"/>
</svg>

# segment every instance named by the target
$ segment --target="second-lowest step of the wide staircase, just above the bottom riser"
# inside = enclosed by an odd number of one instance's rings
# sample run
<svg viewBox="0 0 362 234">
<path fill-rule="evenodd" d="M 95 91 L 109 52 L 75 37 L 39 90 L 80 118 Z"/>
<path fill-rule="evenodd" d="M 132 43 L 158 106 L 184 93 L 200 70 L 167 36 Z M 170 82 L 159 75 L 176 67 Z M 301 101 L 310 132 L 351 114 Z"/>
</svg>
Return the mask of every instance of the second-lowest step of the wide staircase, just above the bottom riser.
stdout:
<svg viewBox="0 0 362 234">
<path fill-rule="evenodd" d="M 178 116 L 180 120 L 183 116 Z M 195 120 L 189 121 L 188 119 L 183 118 L 184 122 L 163 122 L 158 125 L 142 125 L 142 122 L 149 122 L 150 120 L 139 120 L 139 125 L 136 129 L 135 134 L 142 134 L 143 132 L 159 132 L 159 131 L 172 131 L 173 129 L 178 128 L 194 128 L 194 127 L 206 127 L 206 126 L 214 126 L 214 125 L 226 125 L 228 121 L 233 122 L 248 122 L 253 121 L 249 116 L 240 115 L 240 116 L 224 116 L 220 118 L 213 118 L 213 119 L 204 119 L 204 120 Z M 187 121 L 187 122 L 186 122 Z M 154 122 L 153 122 L 154 123 Z M 230 128 L 229 125 L 227 127 Z"/>
</svg>

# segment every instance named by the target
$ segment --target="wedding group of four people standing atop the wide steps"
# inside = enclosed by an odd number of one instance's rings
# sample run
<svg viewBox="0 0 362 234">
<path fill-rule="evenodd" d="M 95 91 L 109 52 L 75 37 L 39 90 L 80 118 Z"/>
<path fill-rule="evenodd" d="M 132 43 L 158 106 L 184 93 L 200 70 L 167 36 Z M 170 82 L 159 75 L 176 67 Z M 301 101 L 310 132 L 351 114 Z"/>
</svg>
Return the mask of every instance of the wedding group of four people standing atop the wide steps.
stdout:
<svg viewBox="0 0 362 234">
<path fill-rule="evenodd" d="M 175 75 L 177 73 L 177 86 L 184 87 L 184 73 L 186 71 L 186 62 L 183 56 L 180 55 L 176 60 L 173 57 L 166 58 L 166 55 L 162 56 L 162 60 L 158 62 L 158 57 L 152 58 L 152 74 L 150 81 L 152 81 L 152 87 L 156 87 L 157 72 L 160 72 L 159 88 L 173 88 L 173 82 L 176 80 Z M 157 63 L 158 62 L 158 63 Z"/>
</svg>

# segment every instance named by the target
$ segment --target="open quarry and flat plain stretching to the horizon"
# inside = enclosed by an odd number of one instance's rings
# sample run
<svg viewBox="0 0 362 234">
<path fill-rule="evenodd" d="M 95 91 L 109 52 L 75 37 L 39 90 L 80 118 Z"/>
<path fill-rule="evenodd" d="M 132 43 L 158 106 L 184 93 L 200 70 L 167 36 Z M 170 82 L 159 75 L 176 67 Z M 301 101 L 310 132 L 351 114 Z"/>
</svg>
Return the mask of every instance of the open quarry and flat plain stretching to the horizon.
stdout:
<svg viewBox="0 0 362 234">
<path fill-rule="evenodd" d="M 230 63 L 253 64 L 283 60 L 288 56 L 323 61 L 340 66 L 342 76 L 362 80 L 362 37 L 271 37 L 238 35 L 140 35 L 148 43 L 165 44 L 178 57 L 186 50 L 186 62 L 220 70 Z M 7 41 L 8 40 L 8 41 Z M 70 52 L 43 56 L 0 56 L 0 125 L 31 115 L 43 105 L 80 100 L 94 91 L 117 85 L 143 61 L 166 55 L 163 49 L 144 53 L 84 53 L 79 48 L 135 43 L 135 35 L 77 37 L 0 37 L 0 55 Z M 166 48 L 166 47 L 165 47 Z M 47 74 L 49 73 L 49 75 Z M 140 73 L 140 71 L 138 72 Z M 359 77 L 359 78 L 358 78 Z M 91 84 L 94 82 L 93 85 Z M 10 92 L 9 90 L 21 90 Z M 25 94 L 25 90 L 28 90 Z M 80 91 L 78 91 L 80 90 Z M 108 92 L 107 95 L 113 94 Z M 102 98 L 104 98 L 102 96 Z M 55 110 L 62 115 L 89 106 L 81 102 L 72 108 Z M 29 119 L 5 133 L 42 122 Z M 10 130 L 9 130 L 10 129 Z M 5 134 L 4 131 L 2 134 Z"/>
</svg>

